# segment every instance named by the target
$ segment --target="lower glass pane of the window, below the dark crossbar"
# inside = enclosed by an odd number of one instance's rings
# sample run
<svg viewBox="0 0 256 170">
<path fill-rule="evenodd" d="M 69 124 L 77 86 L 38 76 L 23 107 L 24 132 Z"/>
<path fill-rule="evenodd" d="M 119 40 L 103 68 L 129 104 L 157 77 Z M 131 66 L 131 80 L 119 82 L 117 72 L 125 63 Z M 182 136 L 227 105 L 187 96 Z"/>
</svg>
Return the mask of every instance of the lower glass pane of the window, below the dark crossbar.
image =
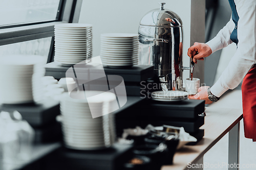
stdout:
<svg viewBox="0 0 256 170">
<path fill-rule="evenodd" d="M 18 42 L 0 46 L 0 56 L 13 54 L 40 55 L 45 57 L 45 63 L 49 55 L 52 37 L 31 41 Z"/>
</svg>

